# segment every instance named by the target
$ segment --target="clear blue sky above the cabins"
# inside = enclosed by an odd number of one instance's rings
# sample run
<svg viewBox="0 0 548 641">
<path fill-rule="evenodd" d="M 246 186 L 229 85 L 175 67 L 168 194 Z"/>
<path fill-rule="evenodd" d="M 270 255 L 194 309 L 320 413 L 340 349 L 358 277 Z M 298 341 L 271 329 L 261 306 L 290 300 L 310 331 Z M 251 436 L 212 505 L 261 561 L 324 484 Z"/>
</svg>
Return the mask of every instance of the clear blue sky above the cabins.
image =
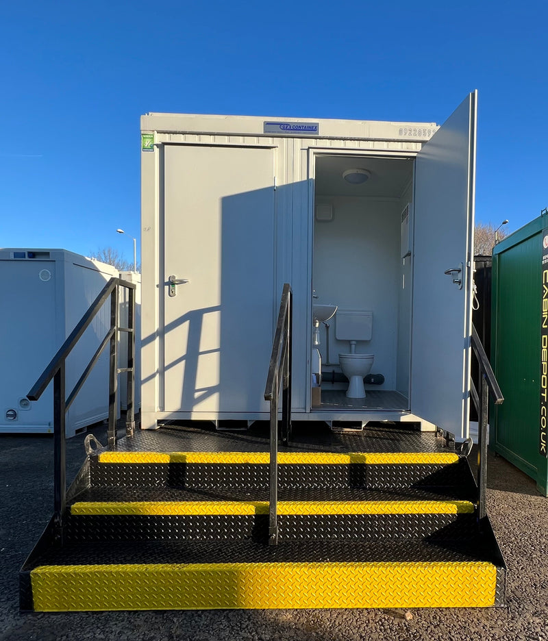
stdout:
<svg viewBox="0 0 548 641">
<path fill-rule="evenodd" d="M 443 123 L 479 90 L 476 219 L 548 206 L 548 3 L 3 2 L 0 246 L 139 236 L 147 112 Z"/>
</svg>

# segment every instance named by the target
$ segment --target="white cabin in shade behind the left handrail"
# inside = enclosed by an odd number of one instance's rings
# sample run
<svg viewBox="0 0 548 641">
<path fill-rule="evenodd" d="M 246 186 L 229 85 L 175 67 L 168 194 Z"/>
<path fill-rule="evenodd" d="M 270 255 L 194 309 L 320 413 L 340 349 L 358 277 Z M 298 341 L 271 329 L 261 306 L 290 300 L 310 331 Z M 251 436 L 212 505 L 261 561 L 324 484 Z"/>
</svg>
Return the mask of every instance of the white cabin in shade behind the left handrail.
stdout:
<svg viewBox="0 0 548 641">
<path fill-rule="evenodd" d="M 53 382 L 27 393 L 116 268 L 65 249 L 0 249 L 0 432 L 53 432 Z M 110 328 L 105 303 L 66 360 L 66 394 Z M 66 413 L 66 435 L 108 416 L 108 349 Z"/>
</svg>

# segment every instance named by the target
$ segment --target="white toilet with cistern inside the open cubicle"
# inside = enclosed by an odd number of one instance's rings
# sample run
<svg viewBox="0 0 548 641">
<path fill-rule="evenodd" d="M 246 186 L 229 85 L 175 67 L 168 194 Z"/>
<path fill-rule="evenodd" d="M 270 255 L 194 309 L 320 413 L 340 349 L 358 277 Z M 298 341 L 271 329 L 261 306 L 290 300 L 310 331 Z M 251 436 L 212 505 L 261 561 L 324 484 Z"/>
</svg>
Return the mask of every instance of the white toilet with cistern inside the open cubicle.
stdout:
<svg viewBox="0 0 548 641">
<path fill-rule="evenodd" d="M 356 353 L 358 340 L 371 340 L 373 312 L 362 310 L 338 310 L 335 317 L 335 337 L 350 343 L 350 353 L 338 355 L 343 374 L 349 379 L 347 398 L 364 399 L 364 376 L 371 372 L 373 354 Z"/>
</svg>

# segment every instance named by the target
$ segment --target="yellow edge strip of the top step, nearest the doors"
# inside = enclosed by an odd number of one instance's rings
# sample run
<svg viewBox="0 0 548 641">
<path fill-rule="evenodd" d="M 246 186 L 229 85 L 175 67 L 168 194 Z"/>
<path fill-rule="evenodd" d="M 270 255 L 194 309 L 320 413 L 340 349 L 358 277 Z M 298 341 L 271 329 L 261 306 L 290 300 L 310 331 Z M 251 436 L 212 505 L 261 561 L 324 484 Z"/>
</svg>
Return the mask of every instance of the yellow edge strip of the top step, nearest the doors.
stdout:
<svg viewBox="0 0 548 641">
<path fill-rule="evenodd" d="M 103 452 L 101 463 L 205 463 L 205 464 L 268 464 L 268 452 Z M 382 453 L 328 453 L 279 452 L 278 463 L 295 465 L 373 465 L 450 464 L 458 462 L 458 454 L 451 452 L 382 452 Z"/>
</svg>

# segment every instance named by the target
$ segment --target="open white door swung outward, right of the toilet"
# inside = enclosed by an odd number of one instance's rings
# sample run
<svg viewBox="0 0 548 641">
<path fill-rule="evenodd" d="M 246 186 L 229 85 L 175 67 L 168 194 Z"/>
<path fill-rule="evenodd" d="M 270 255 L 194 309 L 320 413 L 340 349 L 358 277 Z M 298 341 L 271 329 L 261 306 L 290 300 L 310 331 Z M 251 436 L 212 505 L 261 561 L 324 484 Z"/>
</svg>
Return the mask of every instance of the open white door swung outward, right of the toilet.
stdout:
<svg viewBox="0 0 548 641">
<path fill-rule="evenodd" d="M 416 158 L 411 411 L 468 436 L 477 92 Z"/>
</svg>

